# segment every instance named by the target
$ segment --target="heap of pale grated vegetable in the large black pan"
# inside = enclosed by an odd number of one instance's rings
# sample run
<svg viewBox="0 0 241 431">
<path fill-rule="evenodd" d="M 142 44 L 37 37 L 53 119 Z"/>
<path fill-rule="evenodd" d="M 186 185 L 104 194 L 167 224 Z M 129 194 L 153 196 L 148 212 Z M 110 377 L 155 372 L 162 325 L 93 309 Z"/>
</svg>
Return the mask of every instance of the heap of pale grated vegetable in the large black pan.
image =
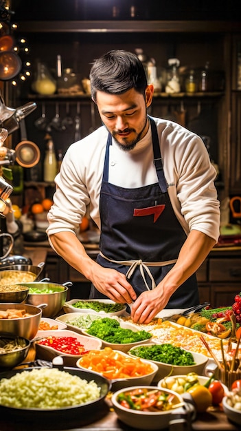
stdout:
<svg viewBox="0 0 241 431">
<path fill-rule="evenodd" d="M 58 368 L 25 370 L 0 380 L 0 404 L 13 408 L 58 409 L 99 397 L 95 381 L 87 382 Z"/>
</svg>

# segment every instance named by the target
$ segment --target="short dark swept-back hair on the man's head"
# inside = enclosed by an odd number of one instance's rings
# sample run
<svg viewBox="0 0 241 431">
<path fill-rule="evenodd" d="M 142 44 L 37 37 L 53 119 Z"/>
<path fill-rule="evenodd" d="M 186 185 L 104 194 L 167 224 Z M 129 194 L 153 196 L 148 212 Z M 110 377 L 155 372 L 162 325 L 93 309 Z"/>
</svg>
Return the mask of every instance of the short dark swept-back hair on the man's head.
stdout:
<svg viewBox="0 0 241 431">
<path fill-rule="evenodd" d="M 143 64 L 132 52 L 124 50 L 107 52 L 93 63 L 89 77 L 94 101 L 97 91 L 122 94 L 135 88 L 145 96 L 146 73 Z"/>
</svg>

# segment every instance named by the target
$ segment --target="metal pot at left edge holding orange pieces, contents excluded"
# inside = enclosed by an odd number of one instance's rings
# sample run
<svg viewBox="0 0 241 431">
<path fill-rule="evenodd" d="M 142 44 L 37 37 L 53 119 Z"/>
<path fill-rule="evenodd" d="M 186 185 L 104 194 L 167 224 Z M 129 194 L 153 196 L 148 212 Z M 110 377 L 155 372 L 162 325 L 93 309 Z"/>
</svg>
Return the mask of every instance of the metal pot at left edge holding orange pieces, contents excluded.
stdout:
<svg viewBox="0 0 241 431">
<path fill-rule="evenodd" d="M 6 303 L 0 304 L 0 313 L 1 311 L 7 311 L 9 308 L 24 310 L 25 313 L 30 313 L 30 316 L 15 319 L 0 319 L 0 333 L 11 333 L 27 339 L 34 338 L 41 322 L 42 309 L 28 304 Z"/>
</svg>

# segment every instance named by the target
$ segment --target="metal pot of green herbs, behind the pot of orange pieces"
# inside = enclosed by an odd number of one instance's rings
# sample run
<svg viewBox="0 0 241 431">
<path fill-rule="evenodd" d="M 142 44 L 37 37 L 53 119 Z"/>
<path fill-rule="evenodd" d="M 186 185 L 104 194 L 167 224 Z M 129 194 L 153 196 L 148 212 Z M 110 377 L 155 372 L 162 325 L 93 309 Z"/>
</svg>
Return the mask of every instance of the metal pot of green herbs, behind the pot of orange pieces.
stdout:
<svg viewBox="0 0 241 431">
<path fill-rule="evenodd" d="M 63 304 L 65 304 L 68 287 L 71 286 L 71 282 L 66 282 L 64 284 L 58 283 L 45 283 L 45 282 L 34 282 L 34 283 L 21 283 L 23 286 L 31 288 L 38 288 L 38 291 L 43 291 L 43 293 L 29 293 L 27 295 L 27 304 L 32 304 L 38 306 L 39 304 L 47 304 L 43 309 L 43 317 L 54 317 L 61 310 Z M 45 293 L 49 289 L 56 289 L 54 293 Z"/>
</svg>

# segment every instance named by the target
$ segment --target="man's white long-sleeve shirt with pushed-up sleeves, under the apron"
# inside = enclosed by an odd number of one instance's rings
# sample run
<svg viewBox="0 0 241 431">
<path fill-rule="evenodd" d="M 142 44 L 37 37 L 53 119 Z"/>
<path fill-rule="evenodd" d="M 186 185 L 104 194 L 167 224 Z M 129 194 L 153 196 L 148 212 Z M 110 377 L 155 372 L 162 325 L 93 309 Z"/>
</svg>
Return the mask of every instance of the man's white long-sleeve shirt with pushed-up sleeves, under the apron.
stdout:
<svg viewBox="0 0 241 431">
<path fill-rule="evenodd" d="M 217 241 L 220 209 L 214 187 L 216 170 L 203 140 L 172 121 L 154 120 L 176 217 L 187 235 L 196 229 Z M 75 231 L 87 206 L 91 218 L 101 229 L 99 203 L 107 136 L 106 127 L 102 126 L 67 150 L 55 179 L 54 204 L 47 216 L 49 236 L 60 231 Z M 150 127 L 132 151 L 123 151 L 113 140 L 108 181 L 130 189 L 157 182 Z"/>
</svg>

